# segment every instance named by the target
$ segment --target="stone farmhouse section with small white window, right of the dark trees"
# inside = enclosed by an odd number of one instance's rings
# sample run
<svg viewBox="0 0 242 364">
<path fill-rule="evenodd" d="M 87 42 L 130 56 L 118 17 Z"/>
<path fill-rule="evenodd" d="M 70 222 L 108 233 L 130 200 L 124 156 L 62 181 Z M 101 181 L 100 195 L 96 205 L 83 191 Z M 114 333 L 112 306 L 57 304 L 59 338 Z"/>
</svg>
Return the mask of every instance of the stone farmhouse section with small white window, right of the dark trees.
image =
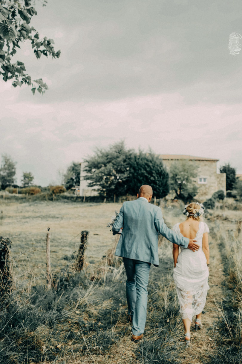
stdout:
<svg viewBox="0 0 242 364">
<path fill-rule="evenodd" d="M 160 154 L 158 157 L 162 158 L 168 171 L 173 162 L 187 160 L 196 163 L 198 170 L 195 182 L 198 187 L 198 194 L 195 199 L 204 202 L 218 190 L 223 190 L 226 195 L 226 173 L 217 173 L 218 159 L 176 154 Z"/>
</svg>

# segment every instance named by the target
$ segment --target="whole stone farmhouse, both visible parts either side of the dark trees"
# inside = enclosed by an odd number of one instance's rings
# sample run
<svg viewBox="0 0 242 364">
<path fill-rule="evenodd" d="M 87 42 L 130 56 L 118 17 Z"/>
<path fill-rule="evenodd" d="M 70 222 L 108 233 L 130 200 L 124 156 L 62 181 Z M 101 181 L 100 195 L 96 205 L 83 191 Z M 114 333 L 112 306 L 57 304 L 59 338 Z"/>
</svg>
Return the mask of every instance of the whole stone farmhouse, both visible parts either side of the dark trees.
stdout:
<svg viewBox="0 0 242 364">
<path fill-rule="evenodd" d="M 195 162 L 198 166 L 198 175 L 196 179 L 196 185 L 198 186 L 198 194 L 195 198 L 204 202 L 207 198 L 218 190 L 223 190 L 226 194 L 226 174 L 217 173 L 218 159 L 193 157 L 192 155 L 170 155 L 159 154 L 157 157 L 162 158 L 164 166 L 169 171 L 173 162 L 188 161 Z M 88 181 L 85 178 L 85 172 L 83 171 L 85 162 L 80 163 L 81 180 L 80 186 L 75 187 L 75 194 L 79 196 L 97 196 L 97 191 L 94 191 L 94 187 L 87 187 Z"/>
</svg>

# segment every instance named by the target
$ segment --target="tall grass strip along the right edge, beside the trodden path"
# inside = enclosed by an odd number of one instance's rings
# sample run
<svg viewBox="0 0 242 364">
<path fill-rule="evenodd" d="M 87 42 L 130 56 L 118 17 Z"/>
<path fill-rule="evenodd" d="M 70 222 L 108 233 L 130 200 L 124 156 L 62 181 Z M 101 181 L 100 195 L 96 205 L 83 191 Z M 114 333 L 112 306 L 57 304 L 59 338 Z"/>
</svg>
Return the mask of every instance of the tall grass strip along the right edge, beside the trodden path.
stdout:
<svg viewBox="0 0 242 364">
<path fill-rule="evenodd" d="M 223 297 L 216 299 L 220 316 L 217 351 L 210 356 L 212 364 L 242 363 L 242 233 L 225 226 L 217 231 L 223 261 Z"/>
</svg>

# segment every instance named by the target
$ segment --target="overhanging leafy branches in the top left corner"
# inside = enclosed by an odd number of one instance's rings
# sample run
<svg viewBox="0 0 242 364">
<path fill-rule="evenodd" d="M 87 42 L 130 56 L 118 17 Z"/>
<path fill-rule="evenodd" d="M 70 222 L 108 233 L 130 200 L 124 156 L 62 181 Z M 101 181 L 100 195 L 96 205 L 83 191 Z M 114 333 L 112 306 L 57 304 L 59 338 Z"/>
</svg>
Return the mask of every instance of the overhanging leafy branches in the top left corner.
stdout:
<svg viewBox="0 0 242 364">
<path fill-rule="evenodd" d="M 46 1 L 44 1 L 46 3 Z M 54 51 L 53 39 L 40 36 L 36 29 L 30 26 L 32 16 L 37 15 L 32 6 L 34 0 L 1 0 L 0 2 L 0 74 L 4 81 L 12 79 L 14 87 L 27 84 L 32 86 L 33 94 L 36 91 L 44 93 L 48 86 L 43 80 L 31 80 L 31 76 L 25 71 L 24 63 L 12 62 L 13 56 L 20 48 L 21 43 L 30 41 L 37 59 L 42 55 L 59 58 L 61 51 Z"/>
</svg>

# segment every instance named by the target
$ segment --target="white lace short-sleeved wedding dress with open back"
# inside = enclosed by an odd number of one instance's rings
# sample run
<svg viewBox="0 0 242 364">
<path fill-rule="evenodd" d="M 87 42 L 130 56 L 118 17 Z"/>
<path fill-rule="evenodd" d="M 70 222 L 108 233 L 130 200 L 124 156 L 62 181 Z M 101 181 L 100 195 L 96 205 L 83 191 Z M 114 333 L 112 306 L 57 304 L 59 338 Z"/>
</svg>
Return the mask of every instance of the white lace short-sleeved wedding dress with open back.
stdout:
<svg viewBox="0 0 242 364">
<path fill-rule="evenodd" d="M 177 223 L 173 230 L 181 234 L 179 225 L 180 223 Z M 202 312 L 209 290 L 209 271 L 205 254 L 202 251 L 202 236 L 206 232 L 209 233 L 208 225 L 200 221 L 195 238 L 196 244 L 200 248 L 193 252 L 190 249 L 180 247 L 181 252 L 173 271 L 181 317 L 182 319 L 189 318 L 190 321 L 194 315 Z"/>
</svg>

